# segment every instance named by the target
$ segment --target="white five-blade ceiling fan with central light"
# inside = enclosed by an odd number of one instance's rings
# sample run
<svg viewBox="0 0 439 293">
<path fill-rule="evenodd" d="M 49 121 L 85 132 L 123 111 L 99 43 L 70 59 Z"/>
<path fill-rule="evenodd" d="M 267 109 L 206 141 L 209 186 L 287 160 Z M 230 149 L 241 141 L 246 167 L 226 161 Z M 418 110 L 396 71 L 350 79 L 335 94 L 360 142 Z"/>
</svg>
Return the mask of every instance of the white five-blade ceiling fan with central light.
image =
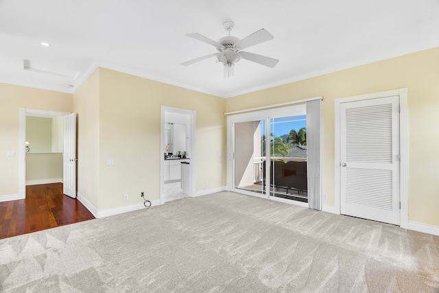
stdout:
<svg viewBox="0 0 439 293">
<path fill-rule="evenodd" d="M 190 36 L 191 38 L 195 38 L 204 43 L 208 43 L 209 45 L 213 45 L 215 48 L 217 48 L 218 53 L 213 53 L 182 62 L 181 65 L 191 65 L 195 62 L 216 56 L 218 59 L 217 62 L 222 62 L 224 65 L 224 78 L 230 78 L 234 75 L 233 67 L 235 67 L 235 63 L 241 60 L 241 58 L 259 63 L 260 65 L 265 65 L 270 68 L 275 67 L 277 62 L 279 62 L 279 60 L 274 58 L 250 53 L 247 51 L 241 51 L 242 49 L 246 49 L 250 46 L 257 45 L 274 38 L 274 36 L 272 36 L 272 34 L 266 30 L 261 29 L 240 40 L 239 38 L 230 36 L 230 31 L 233 29 L 233 27 L 235 27 L 235 23 L 233 23 L 233 21 L 226 21 L 223 23 L 223 27 L 224 30 L 228 32 L 228 36 L 220 38 L 218 41 L 211 40 L 210 38 L 197 33 L 186 34 L 186 36 Z"/>
</svg>

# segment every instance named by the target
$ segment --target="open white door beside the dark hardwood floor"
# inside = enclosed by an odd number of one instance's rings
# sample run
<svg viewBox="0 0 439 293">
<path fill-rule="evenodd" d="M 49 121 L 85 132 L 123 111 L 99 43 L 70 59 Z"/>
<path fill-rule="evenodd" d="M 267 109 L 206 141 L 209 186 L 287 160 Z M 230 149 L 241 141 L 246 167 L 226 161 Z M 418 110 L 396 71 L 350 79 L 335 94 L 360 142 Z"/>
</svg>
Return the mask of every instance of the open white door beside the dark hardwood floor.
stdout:
<svg viewBox="0 0 439 293">
<path fill-rule="evenodd" d="M 76 198 L 76 113 L 64 115 L 63 193 Z"/>
</svg>

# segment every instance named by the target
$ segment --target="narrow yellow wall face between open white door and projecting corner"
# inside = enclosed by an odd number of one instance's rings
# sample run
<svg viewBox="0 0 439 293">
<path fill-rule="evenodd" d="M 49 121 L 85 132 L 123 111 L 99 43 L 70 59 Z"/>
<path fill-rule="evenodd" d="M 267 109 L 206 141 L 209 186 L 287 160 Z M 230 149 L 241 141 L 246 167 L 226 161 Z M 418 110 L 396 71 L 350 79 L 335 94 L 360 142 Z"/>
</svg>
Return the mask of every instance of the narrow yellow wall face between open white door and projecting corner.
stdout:
<svg viewBox="0 0 439 293">
<path fill-rule="evenodd" d="M 76 91 L 73 111 L 77 117 L 77 191 L 99 207 L 99 69 Z"/>
</svg>

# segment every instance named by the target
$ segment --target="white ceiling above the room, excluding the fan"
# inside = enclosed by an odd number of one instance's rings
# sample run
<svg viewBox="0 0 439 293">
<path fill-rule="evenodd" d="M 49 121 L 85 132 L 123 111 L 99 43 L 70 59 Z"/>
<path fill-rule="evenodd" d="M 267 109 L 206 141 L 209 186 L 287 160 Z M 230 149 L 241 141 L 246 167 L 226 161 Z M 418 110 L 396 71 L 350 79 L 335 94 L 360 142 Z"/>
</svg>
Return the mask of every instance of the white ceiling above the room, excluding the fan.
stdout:
<svg viewBox="0 0 439 293">
<path fill-rule="evenodd" d="M 180 65 L 216 52 L 185 34 L 218 40 L 224 21 L 237 38 L 268 30 L 246 51 L 278 65 Z M 66 93 L 99 66 L 231 97 L 438 46 L 439 0 L 0 0 L 0 82 Z"/>
</svg>

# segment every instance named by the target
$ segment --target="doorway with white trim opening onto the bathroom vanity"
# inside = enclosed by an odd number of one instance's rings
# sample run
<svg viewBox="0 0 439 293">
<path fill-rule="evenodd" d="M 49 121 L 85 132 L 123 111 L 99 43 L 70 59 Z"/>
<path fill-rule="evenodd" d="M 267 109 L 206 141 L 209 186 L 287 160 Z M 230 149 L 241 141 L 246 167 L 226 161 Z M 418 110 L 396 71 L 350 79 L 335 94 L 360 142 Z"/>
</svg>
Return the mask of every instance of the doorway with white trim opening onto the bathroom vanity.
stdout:
<svg viewBox="0 0 439 293">
<path fill-rule="evenodd" d="M 161 107 L 161 204 L 195 194 L 194 110 Z"/>
</svg>

